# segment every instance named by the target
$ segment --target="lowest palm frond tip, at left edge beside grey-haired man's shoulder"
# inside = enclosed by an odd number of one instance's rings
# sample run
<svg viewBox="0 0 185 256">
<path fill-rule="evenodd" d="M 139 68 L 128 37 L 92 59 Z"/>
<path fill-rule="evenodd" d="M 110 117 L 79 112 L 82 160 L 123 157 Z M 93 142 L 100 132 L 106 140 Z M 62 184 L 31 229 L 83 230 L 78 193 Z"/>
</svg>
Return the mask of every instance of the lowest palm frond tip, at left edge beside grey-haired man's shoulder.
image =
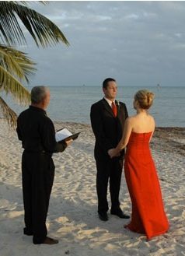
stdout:
<svg viewBox="0 0 185 256">
<path fill-rule="evenodd" d="M 12 128 L 16 128 L 16 120 L 17 115 L 16 112 L 14 112 L 7 103 L 5 103 L 5 100 L 0 97 L 0 112 L 2 113 L 2 116 L 5 118 L 5 120 L 8 122 L 9 126 Z"/>
</svg>

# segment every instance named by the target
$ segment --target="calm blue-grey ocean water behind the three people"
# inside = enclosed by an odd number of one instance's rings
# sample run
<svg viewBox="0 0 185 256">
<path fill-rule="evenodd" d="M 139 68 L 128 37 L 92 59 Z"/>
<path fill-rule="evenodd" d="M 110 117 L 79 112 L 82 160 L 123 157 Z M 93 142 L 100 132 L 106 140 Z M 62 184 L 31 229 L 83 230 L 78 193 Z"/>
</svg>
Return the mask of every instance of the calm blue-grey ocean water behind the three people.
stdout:
<svg viewBox="0 0 185 256">
<path fill-rule="evenodd" d="M 31 87 L 28 89 L 30 90 Z M 126 103 L 129 115 L 135 113 L 132 103 L 134 93 L 138 89 L 149 89 L 155 93 L 155 100 L 149 112 L 155 117 L 156 126 L 185 127 L 185 86 L 118 87 L 117 100 Z M 51 103 L 47 108 L 47 114 L 53 121 L 90 124 L 90 107 L 103 98 L 100 86 L 52 86 L 50 90 Z M 25 109 L 25 107 L 18 107 L 11 100 L 9 104 L 17 114 Z"/>
</svg>

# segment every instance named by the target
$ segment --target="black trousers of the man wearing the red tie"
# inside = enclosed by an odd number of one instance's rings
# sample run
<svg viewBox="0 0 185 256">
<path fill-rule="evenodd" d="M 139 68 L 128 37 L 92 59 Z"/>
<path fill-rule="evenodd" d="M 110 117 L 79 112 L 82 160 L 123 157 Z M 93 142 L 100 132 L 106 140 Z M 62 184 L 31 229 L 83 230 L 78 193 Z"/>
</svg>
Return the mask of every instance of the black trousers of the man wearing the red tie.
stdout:
<svg viewBox="0 0 185 256">
<path fill-rule="evenodd" d="M 96 160 L 96 190 L 98 195 L 98 212 L 107 212 L 107 187 L 110 181 L 111 209 L 120 208 L 119 193 L 120 180 L 123 170 L 123 160 L 113 158 L 108 160 Z"/>
</svg>

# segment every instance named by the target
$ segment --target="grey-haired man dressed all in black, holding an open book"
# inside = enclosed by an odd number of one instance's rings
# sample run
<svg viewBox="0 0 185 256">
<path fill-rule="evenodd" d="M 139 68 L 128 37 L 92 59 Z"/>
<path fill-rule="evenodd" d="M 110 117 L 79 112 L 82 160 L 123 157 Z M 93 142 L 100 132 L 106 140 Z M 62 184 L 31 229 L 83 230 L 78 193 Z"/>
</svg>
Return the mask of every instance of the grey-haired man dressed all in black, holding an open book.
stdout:
<svg viewBox="0 0 185 256">
<path fill-rule="evenodd" d="M 62 152 L 72 140 L 56 142 L 54 124 L 47 117 L 50 90 L 35 86 L 31 90 L 31 105 L 17 119 L 17 134 L 22 141 L 22 180 L 25 228 L 33 236 L 33 244 L 58 244 L 47 237 L 47 211 L 54 181 L 52 154 Z"/>
</svg>

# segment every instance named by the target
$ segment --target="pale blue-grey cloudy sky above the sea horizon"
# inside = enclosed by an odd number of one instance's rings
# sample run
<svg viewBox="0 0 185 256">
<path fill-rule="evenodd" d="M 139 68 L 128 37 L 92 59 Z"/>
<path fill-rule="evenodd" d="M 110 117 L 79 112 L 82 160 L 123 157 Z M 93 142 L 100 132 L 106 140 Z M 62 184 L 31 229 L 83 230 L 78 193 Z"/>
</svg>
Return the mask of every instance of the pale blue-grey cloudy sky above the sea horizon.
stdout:
<svg viewBox="0 0 185 256">
<path fill-rule="evenodd" d="M 30 5 L 70 46 L 21 47 L 37 62 L 31 86 L 185 86 L 185 2 L 52 1 Z"/>
</svg>

